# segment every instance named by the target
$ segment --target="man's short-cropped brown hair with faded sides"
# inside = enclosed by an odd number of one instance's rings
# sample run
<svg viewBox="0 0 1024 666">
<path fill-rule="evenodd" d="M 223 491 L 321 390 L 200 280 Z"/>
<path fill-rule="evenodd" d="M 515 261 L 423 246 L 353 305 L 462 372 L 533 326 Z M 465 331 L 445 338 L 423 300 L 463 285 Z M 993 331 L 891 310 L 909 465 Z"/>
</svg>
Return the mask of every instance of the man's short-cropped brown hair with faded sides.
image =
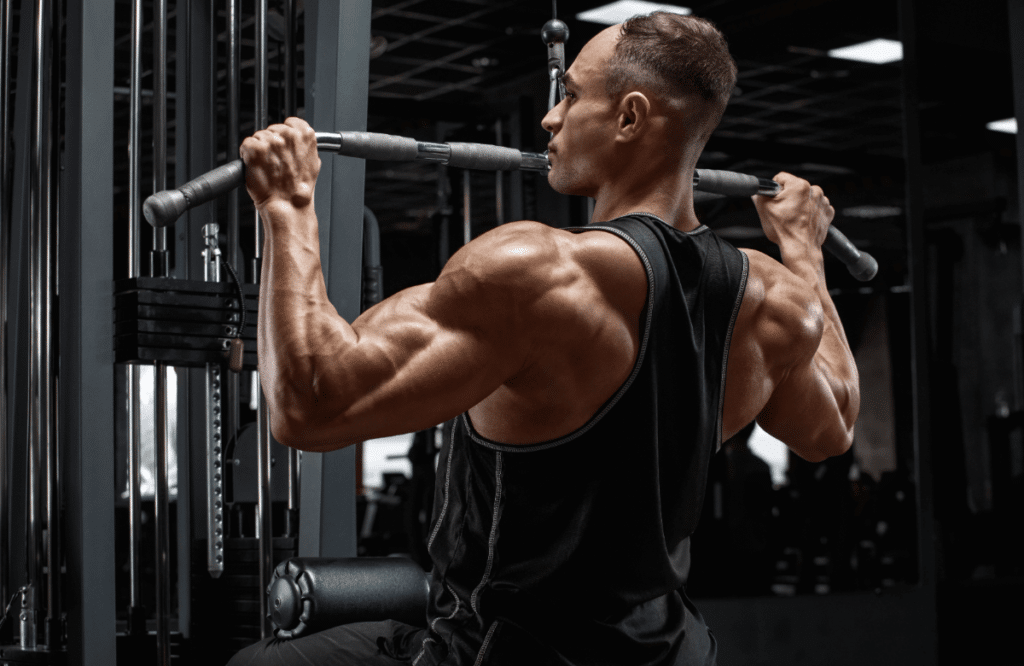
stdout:
<svg viewBox="0 0 1024 666">
<path fill-rule="evenodd" d="M 692 127 L 701 144 L 718 127 L 736 85 L 736 64 L 725 36 L 696 16 L 655 11 L 622 25 L 605 87 L 618 97 L 633 86 L 668 99 L 698 101 Z"/>
</svg>

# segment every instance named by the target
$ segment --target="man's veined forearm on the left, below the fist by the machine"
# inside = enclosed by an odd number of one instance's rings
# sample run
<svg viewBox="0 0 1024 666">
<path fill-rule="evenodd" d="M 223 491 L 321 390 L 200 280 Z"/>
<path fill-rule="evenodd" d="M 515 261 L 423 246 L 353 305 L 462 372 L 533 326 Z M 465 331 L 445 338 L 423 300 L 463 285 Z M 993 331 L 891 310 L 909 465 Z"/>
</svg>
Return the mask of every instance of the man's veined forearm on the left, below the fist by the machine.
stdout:
<svg viewBox="0 0 1024 666">
<path fill-rule="evenodd" d="M 317 368 L 356 336 L 327 296 L 311 204 L 260 207 L 266 230 L 260 286 L 260 381 L 271 417 L 284 432 L 315 402 Z"/>
</svg>

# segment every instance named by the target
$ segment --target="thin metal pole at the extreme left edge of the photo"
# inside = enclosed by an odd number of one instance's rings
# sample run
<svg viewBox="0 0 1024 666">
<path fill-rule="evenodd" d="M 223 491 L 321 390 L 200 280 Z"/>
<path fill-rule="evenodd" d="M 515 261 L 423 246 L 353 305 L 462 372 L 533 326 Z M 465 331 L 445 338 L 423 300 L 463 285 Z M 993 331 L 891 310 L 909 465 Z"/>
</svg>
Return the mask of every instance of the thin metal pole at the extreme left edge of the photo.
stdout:
<svg viewBox="0 0 1024 666">
<path fill-rule="evenodd" d="M 10 464 L 7 451 L 7 267 L 10 245 L 10 191 L 7 189 L 7 97 L 10 94 L 11 0 L 0 1 L 0 542 L 10 543 Z M 7 599 L 8 548 L 0 548 L 0 599 Z"/>
</svg>

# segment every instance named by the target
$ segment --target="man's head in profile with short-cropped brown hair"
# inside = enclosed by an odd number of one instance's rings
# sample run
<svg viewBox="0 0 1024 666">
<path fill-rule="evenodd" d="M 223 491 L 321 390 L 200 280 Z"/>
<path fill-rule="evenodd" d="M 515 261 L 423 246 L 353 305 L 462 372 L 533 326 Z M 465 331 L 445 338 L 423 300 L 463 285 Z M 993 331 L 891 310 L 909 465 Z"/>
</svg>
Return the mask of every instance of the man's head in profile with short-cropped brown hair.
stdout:
<svg viewBox="0 0 1024 666">
<path fill-rule="evenodd" d="M 555 134 L 552 186 L 595 197 L 637 166 L 692 169 L 735 78 L 725 38 L 701 18 L 654 12 L 605 29 L 584 45 L 566 98 L 542 122 Z"/>
</svg>

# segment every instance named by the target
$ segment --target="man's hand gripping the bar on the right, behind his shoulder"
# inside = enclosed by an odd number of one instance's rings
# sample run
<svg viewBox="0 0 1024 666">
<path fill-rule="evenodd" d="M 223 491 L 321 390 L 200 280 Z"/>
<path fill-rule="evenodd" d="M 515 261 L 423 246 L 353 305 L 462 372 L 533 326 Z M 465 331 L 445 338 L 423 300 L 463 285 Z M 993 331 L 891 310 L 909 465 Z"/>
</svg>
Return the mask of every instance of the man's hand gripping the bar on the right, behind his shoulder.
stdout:
<svg viewBox="0 0 1024 666">
<path fill-rule="evenodd" d="M 796 241 L 820 248 L 836 216 L 828 198 L 818 185 L 784 171 L 773 180 L 782 185 L 776 196 L 753 197 L 765 236 L 775 245 Z"/>
</svg>

